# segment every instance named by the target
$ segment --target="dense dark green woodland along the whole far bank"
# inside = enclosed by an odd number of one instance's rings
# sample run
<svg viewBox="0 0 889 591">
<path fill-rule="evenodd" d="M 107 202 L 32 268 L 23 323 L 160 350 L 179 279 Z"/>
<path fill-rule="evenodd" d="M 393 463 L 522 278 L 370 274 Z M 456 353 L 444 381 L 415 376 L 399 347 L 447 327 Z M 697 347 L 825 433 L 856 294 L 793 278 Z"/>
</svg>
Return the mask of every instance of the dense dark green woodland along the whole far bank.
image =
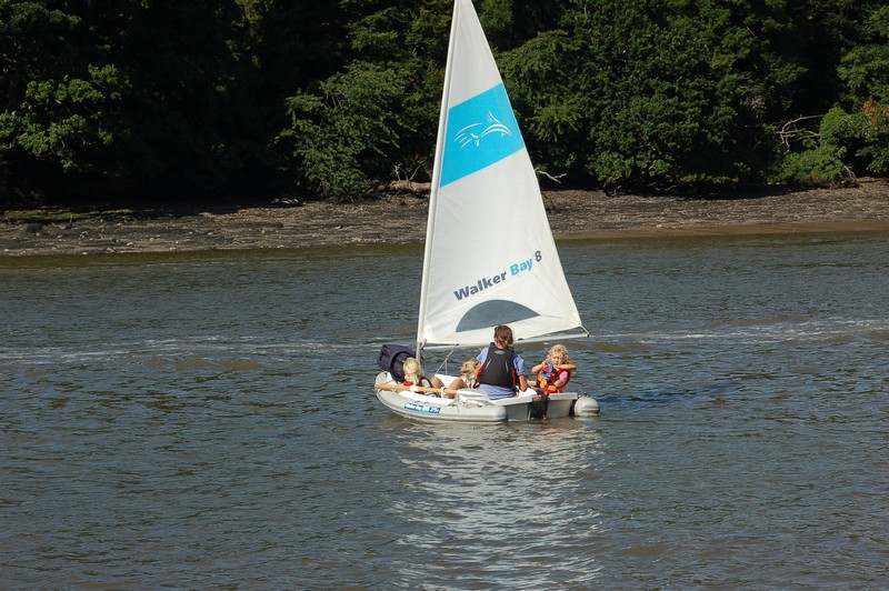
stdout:
<svg viewBox="0 0 889 591">
<path fill-rule="evenodd" d="M 427 180 L 451 0 L 0 0 L 0 202 Z M 570 186 L 889 174 L 883 0 L 477 0 Z"/>
</svg>

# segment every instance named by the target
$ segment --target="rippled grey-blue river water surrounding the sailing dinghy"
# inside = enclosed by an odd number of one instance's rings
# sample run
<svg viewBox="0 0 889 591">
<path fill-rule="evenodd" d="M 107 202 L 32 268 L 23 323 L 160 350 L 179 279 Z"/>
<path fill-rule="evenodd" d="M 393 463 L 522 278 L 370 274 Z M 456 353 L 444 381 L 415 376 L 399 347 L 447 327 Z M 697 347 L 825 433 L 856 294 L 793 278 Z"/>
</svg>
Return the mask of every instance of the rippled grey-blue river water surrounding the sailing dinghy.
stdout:
<svg viewBox="0 0 889 591">
<path fill-rule="evenodd" d="M 886 585 L 889 234 L 559 247 L 601 414 L 482 428 L 372 394 L 420 247 L 0 259 L 0 587 Z"/>
</svg>

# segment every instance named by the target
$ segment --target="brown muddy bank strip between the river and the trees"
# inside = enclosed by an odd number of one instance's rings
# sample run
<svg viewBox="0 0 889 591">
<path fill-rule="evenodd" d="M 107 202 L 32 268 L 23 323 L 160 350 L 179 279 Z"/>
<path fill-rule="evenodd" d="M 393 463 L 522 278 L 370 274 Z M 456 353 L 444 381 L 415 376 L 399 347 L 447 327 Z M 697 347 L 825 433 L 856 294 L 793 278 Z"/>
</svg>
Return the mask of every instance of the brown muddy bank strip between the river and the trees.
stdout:
<svg viewBox="0 0 889 591">
<path fill-rule="evenodd" d="M 887 179 L 865 179 L 852 188 L 755 188 L 696 197 L 551 191 L 545 200 L 557 239 L 889 231 Z M 351 204 L 121 209 L 67 221 L 4 216 L 0 256 L 418 243 L 426 236 L 427 203 L 424 196 L 406 193 Z"/>
</svg>

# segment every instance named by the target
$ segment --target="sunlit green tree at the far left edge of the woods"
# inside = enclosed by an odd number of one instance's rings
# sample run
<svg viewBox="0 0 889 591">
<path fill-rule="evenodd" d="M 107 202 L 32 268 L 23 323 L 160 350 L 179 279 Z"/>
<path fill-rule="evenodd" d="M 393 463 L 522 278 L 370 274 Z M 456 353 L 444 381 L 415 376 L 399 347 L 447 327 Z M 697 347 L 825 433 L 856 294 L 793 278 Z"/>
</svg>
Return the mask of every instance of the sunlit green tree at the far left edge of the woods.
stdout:
<svg viewBox="0 0 889 591">
<path fill-rule="evenodd" d="M 0 4 L 0 173 L 19 186 L 99 172 L 116 143 L 129 81 L 83 30 L 67 2 Z"/>
</svg>

